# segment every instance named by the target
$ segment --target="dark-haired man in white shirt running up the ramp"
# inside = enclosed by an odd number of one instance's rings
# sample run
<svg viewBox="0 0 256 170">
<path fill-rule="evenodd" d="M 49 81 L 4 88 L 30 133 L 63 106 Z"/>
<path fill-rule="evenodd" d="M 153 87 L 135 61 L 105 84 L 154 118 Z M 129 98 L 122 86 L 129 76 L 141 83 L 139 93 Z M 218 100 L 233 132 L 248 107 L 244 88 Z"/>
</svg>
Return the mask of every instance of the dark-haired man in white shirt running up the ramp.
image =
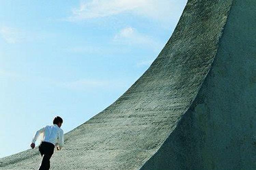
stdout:
<svg viewBox="0 0 256 170">
<path fill-rule="evenodd" d="M 60 150 L 64 145 L 63 130 L 60 129 L 62 125 L 62 118 L 56 116 L 53 119 L 53 125 L 45 126 L 35 133 L 34 138 L 30 147 L 34 149 L 35 141 L 38 139 L 39 135 L 43 133 L 43 140 L 39 145 L 39 152 L 42 156 L 42 162 L 38 170 L 48 170 L 50 169 L 50 158 L 53 155 L 54 147 L 57 147 L 57 150 Z"/>
</svg>

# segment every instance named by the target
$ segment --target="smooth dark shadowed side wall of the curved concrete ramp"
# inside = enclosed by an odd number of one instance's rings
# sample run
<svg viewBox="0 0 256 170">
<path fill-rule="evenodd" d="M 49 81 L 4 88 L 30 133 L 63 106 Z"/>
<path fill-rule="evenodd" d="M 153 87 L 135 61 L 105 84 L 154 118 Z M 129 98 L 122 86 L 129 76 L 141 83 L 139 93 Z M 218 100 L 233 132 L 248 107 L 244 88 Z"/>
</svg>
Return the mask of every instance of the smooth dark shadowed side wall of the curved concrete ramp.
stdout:
<svg viewBox="0 0 256 170">
<path fill-rule="evenodd" d="M 255 18 L 255 0 L 233 0 L 196 99 L 141 170 L 256 169 Z"/>
</svg>

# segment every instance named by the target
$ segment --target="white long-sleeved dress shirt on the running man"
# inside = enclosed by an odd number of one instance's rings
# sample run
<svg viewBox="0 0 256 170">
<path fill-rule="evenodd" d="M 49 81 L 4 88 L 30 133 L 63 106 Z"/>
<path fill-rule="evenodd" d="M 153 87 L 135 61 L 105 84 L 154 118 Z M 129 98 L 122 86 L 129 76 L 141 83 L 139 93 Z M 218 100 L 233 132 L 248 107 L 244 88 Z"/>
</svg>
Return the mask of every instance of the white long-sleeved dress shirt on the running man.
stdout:
<svg viewBox="0 0 256 170">
<path fill-rule="evenodd" d="M 38 139 L 39 135 L 43 133 L 43 139 L 41 142 L 50 142 L 55 146 L 59 146 L 61 149 L 64 145 L 64 137 L 63 137 L 63 130 L 59 128 L 57 124 L 51 126 L 45 126 L 44 128 L 38 130 L 35 133 L 34 138 L 32 139 L 32 143 Z"/>
</svg>

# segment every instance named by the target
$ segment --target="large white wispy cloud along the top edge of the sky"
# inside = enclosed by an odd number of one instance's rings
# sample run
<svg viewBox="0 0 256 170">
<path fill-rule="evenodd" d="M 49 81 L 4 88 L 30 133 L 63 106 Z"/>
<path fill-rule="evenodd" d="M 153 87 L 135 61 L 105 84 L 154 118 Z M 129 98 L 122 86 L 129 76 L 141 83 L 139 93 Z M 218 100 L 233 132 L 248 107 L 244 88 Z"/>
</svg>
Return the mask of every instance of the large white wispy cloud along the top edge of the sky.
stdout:
<svg viewBox="0 0 256 170">
<path fill-rule="evenodd" d="M 180 11 L 187 0 L 92 0 L 81 2 L 78 8 L 72 10 L 68 21 L 79 21 L 91 18 L 113 16 L 121 13 L 131 13 L 158 20 L 179 18 Z"/>
</svg>

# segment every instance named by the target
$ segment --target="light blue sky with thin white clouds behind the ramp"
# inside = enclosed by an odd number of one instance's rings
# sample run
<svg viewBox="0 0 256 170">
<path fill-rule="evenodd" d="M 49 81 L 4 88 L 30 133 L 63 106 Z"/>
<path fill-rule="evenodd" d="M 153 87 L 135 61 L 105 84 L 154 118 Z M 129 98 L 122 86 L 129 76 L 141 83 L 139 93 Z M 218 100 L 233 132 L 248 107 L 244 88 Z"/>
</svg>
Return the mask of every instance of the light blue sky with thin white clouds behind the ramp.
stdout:
<svg viewBox="0 0 256 170">
<path fill-rule="evenodd" d="M 0 1 L 0 157 L 66 133 L 122 95 L 163 48 L 186 0 Z"/>
</svg>

